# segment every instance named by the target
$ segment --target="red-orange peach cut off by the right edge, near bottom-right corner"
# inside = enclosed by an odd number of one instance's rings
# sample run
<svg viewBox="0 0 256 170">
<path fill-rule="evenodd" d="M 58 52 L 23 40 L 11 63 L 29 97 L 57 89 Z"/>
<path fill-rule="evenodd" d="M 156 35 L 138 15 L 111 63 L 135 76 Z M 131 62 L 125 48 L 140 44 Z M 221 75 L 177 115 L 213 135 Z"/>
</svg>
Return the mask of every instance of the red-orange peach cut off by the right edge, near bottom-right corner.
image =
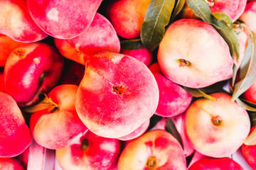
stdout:
<svg viewBox="0 0 256 170">
<path fill-rule="evenodd" d="M 256 126 L 251 128 L 251 132 L 256 128 Z M 256 169 L 256 145 L 245 145 L 241 147 L 242 157 L 252 169 Z"/>
</svg>

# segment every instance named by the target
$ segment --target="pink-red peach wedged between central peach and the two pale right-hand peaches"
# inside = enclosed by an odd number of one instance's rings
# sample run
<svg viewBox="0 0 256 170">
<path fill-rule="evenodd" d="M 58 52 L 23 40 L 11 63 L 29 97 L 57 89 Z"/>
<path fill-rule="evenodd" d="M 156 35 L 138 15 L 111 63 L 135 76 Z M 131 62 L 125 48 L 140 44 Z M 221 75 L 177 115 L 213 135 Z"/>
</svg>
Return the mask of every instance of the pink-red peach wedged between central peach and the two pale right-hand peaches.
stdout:
<svg viewBox="0 0 256 170">
<path fill-rule="evenodd" d="M 155 114 L 170 118 L 186 111 L 193 98 L 191 94 L 162 74 L 154 73 L 154 77 L 159 86 L 159 104 Z"/>
</svg>

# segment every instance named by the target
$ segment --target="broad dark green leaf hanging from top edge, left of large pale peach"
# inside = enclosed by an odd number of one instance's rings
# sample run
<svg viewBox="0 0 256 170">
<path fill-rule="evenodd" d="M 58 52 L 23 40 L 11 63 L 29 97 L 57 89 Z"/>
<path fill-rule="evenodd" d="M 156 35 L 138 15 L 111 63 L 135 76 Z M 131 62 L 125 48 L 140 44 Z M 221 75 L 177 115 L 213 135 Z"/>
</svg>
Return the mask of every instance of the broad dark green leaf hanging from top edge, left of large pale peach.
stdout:
<svg viewBox="0 0 256 170">
<path fill-rule="evenodd" d="M 142 44 L 153 51 L 164 37 L 165 27 L 169 23 L 175 0 L 152 0 L 146 10 L 142 24 Z"/>
</svg>

